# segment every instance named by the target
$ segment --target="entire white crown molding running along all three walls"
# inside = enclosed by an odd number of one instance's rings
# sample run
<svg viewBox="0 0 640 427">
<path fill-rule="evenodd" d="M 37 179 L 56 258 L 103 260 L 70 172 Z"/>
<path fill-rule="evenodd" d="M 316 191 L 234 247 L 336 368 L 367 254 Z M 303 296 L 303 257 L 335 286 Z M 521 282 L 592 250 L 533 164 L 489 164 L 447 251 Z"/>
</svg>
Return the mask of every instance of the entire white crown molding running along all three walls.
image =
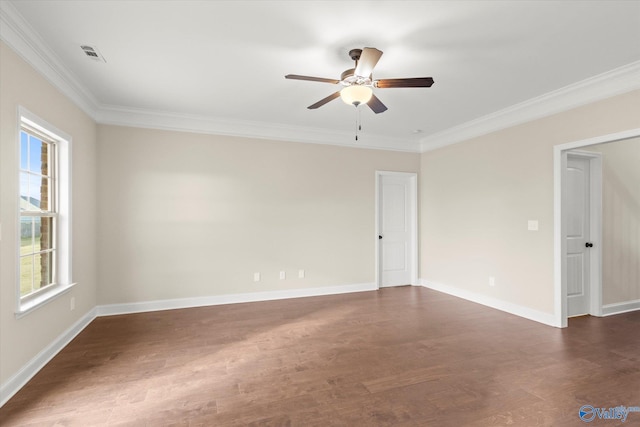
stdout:
<svg viewBox="0 0 640 427">
<path fill-rule="evenodd" d="M 38 33 L 9 1 L 0 2 L 0 39 L 97 123 L 413 153 L 445 147 L 640 89 L 640 61 L 636 61 L 442 132 L 427 135 L 419 141 L 364 134 L 361 140 L 356 142 L 353 140 L 353 133 L 349 132 L 232 121 L 101 104 L 51 52 Z"/>
</svg>

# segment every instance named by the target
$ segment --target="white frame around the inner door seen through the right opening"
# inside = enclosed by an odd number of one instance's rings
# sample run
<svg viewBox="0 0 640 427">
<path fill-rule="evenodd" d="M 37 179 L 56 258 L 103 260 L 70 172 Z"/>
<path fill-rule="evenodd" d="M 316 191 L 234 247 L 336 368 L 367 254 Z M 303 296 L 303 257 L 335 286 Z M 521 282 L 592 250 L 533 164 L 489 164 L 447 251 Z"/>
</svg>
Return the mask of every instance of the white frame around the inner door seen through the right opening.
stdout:
<svg viewBox="0 0 640 427">
<path fill-rule="evenodd" d="M 589 162 L 589 240 L 595 242 L 589 249 L 589 312 L 591 316 L 602 316 L 602 154 L 592 151 L 566 150 L 562 153 L 562 281 L 567 289 L 567 209 L 564 184 L 568 157 Z M 568 298 L 565 292 L 565 300 Z M 567 317 L 568 313 L 568 303 Z"/>
</svg>

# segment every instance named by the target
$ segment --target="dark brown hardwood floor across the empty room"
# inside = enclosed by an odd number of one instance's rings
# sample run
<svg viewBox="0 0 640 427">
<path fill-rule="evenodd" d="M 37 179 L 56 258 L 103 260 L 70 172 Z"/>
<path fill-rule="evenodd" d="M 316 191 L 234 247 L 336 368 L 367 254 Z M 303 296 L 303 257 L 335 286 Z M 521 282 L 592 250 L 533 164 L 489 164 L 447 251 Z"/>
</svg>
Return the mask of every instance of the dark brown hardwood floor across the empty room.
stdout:
<svg viewBox="0 0 640 427">
<path fill-rule="evenodd" d="M 640 312 L 561 330 L 401 287 L 97 318 L 0 424 L 583 426 L 582 405 L 640 406 Z"/>
</svg>

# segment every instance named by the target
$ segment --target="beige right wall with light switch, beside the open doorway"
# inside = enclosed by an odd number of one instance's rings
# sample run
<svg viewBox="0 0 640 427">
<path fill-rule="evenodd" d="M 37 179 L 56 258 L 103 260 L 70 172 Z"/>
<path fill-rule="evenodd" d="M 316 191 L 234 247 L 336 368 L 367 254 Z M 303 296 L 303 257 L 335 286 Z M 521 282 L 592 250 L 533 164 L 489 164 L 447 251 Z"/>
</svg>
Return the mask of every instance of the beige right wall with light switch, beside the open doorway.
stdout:
<svg viewBox="0 0 640 427">
<path fill-rule="evenodd" d="M 553 146 L 638 128 L 638 111 L 635 91 L 424 153 L 421 279 L 552 313 Z"/>
</svg>

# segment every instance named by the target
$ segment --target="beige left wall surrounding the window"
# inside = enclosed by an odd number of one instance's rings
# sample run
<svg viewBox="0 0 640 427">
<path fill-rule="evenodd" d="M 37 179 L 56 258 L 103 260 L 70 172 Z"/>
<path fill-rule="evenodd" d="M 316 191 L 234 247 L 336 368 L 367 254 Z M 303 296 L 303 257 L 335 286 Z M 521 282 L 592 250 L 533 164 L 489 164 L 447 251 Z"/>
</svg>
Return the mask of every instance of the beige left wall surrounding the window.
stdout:
<svg viewBox="0 0 640 427">
<path fill-rule="evenodd" d="M 73 138 L 70 293 L 16 319 L 18 106 Z M 0 384 L 96 305 L 96 126 L 13 50 L 0 42 Z M 70 311 L 69 299 L 76 308 Z"/>
</svg>

